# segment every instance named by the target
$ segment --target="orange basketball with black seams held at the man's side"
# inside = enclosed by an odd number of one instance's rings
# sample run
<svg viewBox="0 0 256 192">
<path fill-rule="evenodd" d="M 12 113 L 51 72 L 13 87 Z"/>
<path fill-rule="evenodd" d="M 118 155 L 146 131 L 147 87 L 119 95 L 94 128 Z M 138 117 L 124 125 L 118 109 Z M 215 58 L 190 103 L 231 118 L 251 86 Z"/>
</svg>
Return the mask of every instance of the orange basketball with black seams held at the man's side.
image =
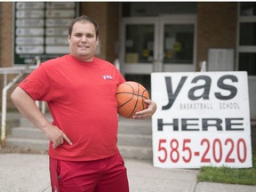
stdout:
<svg viewBox="0 0 256 192">
<path fill-rule="evenodd" d="M 144 102 L 148 99 L 148 91 L 143 85 L 132 81 L 119 84 L 116 91 L 118 114 L 132 118 L 136 112 L 148 108 L 148 104 Z"/>
</svg>

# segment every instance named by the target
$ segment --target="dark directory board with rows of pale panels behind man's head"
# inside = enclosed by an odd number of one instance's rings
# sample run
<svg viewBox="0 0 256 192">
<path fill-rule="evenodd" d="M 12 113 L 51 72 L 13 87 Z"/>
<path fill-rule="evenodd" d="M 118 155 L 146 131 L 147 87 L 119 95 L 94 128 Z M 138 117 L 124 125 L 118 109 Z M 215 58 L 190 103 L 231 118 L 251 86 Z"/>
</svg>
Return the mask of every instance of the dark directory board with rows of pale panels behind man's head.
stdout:
<svg viewBox="0 0 256 192">
<path fill-rule="evenodd" d="M 29 64 L 69 52 L 68 26 L 78 14 L 75 2 L 17 2 L 14 4 L 13 63 Z"/>
</svg>

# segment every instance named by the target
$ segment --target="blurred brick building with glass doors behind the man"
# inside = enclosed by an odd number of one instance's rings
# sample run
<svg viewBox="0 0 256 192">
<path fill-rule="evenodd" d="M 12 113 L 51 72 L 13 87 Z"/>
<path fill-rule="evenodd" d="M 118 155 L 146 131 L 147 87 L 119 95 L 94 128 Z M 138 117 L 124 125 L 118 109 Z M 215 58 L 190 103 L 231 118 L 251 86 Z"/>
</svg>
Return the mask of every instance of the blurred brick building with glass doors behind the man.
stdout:
<svg viewBox="0 0 256 192">
<path fill-rule="evenodd" d="M 97 56 L 149 91 L 152 72 L 200 71 L 204 61 L 207 71 L 247 71 L 256 119 L 256 3 L 1 2 L 0 67 L 68 53 L 68 23 L 82 14 L 99 22 Z"/>
</svg>

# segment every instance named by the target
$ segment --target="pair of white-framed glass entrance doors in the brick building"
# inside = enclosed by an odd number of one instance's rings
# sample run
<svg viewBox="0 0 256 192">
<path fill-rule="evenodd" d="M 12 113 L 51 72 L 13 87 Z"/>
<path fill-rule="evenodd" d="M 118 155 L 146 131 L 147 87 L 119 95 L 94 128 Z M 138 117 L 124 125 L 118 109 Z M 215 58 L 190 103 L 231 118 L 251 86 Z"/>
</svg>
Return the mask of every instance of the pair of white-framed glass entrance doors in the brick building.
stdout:
<svg viewBox="0 0 256 192">
<path fill-rule="evenodd" d="M 195 71 L 196 16 L 125 18 L 121 28 L 121 72 L 150 91 L 152 72 Z"/>
</svg>

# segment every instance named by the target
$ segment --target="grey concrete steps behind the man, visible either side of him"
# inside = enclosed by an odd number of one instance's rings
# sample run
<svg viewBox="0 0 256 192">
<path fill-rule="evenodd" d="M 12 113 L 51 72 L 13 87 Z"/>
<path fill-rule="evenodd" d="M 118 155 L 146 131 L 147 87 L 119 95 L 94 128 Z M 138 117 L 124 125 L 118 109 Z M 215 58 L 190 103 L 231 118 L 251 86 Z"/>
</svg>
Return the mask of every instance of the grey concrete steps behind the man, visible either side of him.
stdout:
<svg viewBox="0 0 256 192">
<path fill-rule="evenodd" d="M 51 116 L 47 118 L 52 121 Z M 151 120 L 132 120 L 119 117 L 118 143 L 120 153 L 125 158 L 152 159 Z M 20 127 L 12 128 L 6 144 L 17 148 L 47 150 L 49 141 L 27 118 L 20 118 Z"/>
</svg>

